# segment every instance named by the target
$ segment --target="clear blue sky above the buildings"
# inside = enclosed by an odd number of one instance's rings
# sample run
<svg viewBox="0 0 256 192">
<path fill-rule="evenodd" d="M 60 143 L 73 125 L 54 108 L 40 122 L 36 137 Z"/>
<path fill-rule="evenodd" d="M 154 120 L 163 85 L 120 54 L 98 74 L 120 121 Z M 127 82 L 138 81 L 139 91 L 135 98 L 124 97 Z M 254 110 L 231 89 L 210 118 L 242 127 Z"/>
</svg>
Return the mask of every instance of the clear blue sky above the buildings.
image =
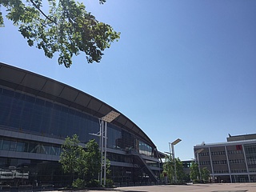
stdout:
<svg viewBox="0 0 256 192">
<path fill-rule="evenodd" d="M 102 62 L 58 66 L 27 46 L 16 27 L 0 28 L 0 62 L 74 86 L 113 106 L 158 146 L 193 146 L 256 133 L 256 1 L 84 0 L 121 32 Z M 3 10 L 3 8 L 2 8 Z"/>
</svg>

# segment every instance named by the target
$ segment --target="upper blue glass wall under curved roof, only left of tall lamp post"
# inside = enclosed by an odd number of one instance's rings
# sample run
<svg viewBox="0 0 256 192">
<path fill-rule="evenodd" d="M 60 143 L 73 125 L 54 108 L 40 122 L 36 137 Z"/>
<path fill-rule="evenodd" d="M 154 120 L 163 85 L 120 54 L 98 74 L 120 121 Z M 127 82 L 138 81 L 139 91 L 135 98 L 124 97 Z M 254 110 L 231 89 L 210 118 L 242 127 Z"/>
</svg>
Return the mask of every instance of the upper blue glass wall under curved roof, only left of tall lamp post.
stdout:
<svg viewBox="0 0 256 192">
<path fill-rule="evenodd" d="M 48 102 L 41 98 L 0 89 L 0 125 L 15 130 L 66 138 L 78 134 L 81 142 L 88 142 L 97 133 L 98 119 L 88 114 Z"/>
</svg>

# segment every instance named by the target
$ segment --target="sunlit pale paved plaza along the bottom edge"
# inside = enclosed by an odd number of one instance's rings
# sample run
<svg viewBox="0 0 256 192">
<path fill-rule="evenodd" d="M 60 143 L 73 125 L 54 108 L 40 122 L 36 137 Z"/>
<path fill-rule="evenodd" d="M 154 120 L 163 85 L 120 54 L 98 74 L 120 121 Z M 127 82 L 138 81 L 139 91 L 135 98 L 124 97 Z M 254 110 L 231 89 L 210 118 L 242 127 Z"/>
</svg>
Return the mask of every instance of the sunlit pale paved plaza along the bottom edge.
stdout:
<svg viewBox="0 0 256 192">
<path fill-rule="evenodd" d="M 102 190 L 83 190 L 86 192 L 102 192 Z M 256 183 L 214 183 L 191 184 L 184 186 L 127 186 L 106 190 L 108 192 L 256 192 Z"/>
</svg>

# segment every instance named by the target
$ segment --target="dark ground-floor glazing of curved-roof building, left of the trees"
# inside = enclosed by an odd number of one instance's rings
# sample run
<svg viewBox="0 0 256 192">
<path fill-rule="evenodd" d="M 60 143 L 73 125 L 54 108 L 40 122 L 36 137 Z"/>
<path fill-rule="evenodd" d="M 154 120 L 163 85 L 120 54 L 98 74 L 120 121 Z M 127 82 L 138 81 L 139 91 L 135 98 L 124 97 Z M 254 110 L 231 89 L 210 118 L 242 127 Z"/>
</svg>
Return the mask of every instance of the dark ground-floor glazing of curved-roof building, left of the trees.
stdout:
<svg viewBox="0 0 256 192">
<path fill-rule="evenodd" d="M 62 172 L 58 162 L 21 158 L 0 158 L 0 185 L 63 186 L 70 176 Z"/>
</svg>

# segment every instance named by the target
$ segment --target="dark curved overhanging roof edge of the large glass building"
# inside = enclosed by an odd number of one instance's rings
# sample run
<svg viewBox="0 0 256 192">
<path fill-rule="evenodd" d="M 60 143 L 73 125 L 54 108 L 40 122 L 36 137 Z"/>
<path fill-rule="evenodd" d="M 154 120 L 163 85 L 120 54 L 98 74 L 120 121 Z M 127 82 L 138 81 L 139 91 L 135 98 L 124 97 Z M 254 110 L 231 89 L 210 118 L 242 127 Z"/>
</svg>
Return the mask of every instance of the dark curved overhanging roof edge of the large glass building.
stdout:
<svg viewBox="0 0 256 192">
<path fill-rule="evenodd" d="M 138 135 L 139 138 L 154 146 L 150 138 L 134 122 L 126 118 L 118 110 L 115 110 L 112 106 L 107 105 L 98 98 L 94 98 L 90 94 L 67 86 L 62 82 L 57 82 L 51 78 L 0 62 L 0 85 L 62 103 L 97 118 L 102 118 L 110 113 L 111 110 L 114 110 L 120 115 L 111 122 L 112 124 Z"/>
</svg>

